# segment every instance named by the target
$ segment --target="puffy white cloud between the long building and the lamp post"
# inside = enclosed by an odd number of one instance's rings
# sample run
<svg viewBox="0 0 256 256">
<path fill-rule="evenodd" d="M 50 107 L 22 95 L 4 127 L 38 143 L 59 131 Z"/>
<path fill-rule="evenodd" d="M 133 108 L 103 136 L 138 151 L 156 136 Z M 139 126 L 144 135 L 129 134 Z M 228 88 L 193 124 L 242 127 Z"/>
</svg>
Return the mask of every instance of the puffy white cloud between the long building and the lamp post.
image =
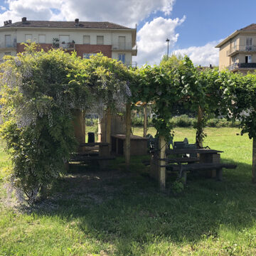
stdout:
<svg viewBox="0 0 256 256">
<path fill-rule="evenodd" d="M 138 56 L 134 58 L 138 65 L 144 63 L 158 64 L 162 55 L 166 54 L 169 38 L 169 48 L 173 47 L 178 40 L 178 33 L 175 28 L 180 26 L 186 17 L 183 18 L 154 18 L 151 22 L 146 22 L 139 30 L 138 34 Z"/>
</svg>

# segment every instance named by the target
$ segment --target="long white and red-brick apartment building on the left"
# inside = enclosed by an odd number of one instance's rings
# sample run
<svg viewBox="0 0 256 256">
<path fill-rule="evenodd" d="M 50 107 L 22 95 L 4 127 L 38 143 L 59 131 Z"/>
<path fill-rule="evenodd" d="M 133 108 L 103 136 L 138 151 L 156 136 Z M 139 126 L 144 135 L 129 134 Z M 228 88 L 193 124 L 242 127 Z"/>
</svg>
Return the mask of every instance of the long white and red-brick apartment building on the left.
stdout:
<svg viewBox="0 0 256 256">
<path fill-rule="evenodd" d="M 125 65 L 137 65 L 137 28 L 127 28 L 110 22 L 79 21 L 4 21 L 0 27 L 0 59 L 24 50 L 23 42 L 35 41 L 41 48 L 75 50 L 81 58 L 102 53 L 121 60 Z"/>
</svg>

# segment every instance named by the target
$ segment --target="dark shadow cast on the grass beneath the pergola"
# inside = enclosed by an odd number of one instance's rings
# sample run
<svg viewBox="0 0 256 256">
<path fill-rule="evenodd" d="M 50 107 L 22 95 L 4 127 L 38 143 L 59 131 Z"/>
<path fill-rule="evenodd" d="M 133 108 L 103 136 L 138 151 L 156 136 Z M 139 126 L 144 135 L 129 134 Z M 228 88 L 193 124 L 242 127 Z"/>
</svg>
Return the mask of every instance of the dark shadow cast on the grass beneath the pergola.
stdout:
<svg viewBox="0 0 256 256">
<path fill-rule="evenodd" d="M 130 172 L 122 167 L 71 169 L 48 199 L 57 207 L 40 208 L 38 214 L 75 221 L 85 235 L 113 244 L 119 255 L 132 255 L 134 246 L 144 250 L 156 241 L 194 243 L 218 238 L 220 227 L 239 232 L 256 218 L 251 166 L 223 161 L 238 164 L 238 169 L 225 170 L 223 182 L 188 174 L 188 184 L 178 197 L 161 193 L 139 158 L 133 158 Z M 122 166 L 124 159 L 117 162 Z"/>
</svg>

